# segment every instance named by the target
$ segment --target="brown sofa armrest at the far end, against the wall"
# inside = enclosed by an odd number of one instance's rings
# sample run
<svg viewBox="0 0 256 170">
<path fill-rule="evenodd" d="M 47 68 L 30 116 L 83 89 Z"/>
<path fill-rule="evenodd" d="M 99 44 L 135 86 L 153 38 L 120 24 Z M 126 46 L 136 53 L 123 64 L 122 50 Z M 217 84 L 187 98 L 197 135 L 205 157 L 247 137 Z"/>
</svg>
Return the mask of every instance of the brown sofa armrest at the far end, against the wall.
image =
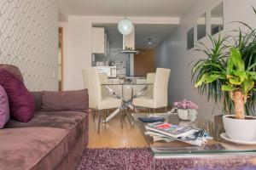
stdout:
<svg viewBox="0 0 256 170">
<path fill-rule="evenodd" d="M 42 92 L 41 111 L 88 111 L 87 89 L 62 92 Z"/>
</svg>

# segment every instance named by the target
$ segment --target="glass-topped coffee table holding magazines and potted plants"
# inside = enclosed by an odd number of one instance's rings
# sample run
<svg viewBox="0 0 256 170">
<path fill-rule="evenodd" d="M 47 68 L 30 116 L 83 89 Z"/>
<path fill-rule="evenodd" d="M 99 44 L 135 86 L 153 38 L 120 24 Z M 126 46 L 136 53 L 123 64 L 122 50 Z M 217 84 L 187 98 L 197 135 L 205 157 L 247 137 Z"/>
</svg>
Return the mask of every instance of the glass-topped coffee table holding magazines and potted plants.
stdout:
<svg viewBox="0 0 256 170">
<path fill-rule="evenodd" d="M 132 116 L 155 158 L 256 156 L 256 145 L 233 144 L 220 138 L 220 134 L 224 132 L 223 124 L 220 121 L 221 117 L 219 117 L 219 121 L 213 123 L 200 121 L 183 122 L 177 116 L 167 116 L 165 113 L 135 113 Z M 172 124 L 203 128 L 207 130 L 207 133 L 210 133 L 213 139 L 208 140 L 207 144 L 202 146 L 194 146 L 175 140 L 168 143 L 164 141 L 154 142 L 152 137 L 145 135 L 145 125 L 147 123 L 137 119 L 142 116 L 164 116 L 166 117 L 166 122 Z"/>
</svg>

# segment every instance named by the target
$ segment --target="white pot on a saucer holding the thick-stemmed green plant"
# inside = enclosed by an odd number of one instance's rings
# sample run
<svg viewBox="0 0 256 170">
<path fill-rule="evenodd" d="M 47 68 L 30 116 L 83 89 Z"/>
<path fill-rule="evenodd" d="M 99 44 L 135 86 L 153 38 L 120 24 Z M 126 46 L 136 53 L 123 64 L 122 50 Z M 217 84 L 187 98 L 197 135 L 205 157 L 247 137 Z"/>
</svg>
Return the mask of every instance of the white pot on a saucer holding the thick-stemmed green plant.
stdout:
<svg viewBox="0 0 256 170">
<path fill-rule="evenodd" d="M 235 119 L 235 116 L 223 116 L 225 133 L 230 139 L 249 142 L 256 138 L 256 117 L 254 119 Z"/>
</svg>

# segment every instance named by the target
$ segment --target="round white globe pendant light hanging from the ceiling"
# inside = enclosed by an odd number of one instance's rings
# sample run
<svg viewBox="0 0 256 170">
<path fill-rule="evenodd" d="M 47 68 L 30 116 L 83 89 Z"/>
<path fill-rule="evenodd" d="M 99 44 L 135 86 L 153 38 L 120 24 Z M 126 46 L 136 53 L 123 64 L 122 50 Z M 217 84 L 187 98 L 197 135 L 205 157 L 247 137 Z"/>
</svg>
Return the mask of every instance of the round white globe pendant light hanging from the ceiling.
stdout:
<svg viewBox="0 0 256 170">
<path fill-rule="evenodd" d="M 128 2 L 129 3 L 129 2 Z M 125 0 L 124 0 L 124 8 L 125 8 Z M 128 7 L 127 7 L 128 8 Z M 125 8 L 126 9 L 126 8 Z M 126 10 L 125 10 L 125 19 L 120 20 L 118 24 L 119 32 L 125 36 L 129 35 L 133 31 L 133 24 L 131 20 L 126 18 Z"/>
</svg>

